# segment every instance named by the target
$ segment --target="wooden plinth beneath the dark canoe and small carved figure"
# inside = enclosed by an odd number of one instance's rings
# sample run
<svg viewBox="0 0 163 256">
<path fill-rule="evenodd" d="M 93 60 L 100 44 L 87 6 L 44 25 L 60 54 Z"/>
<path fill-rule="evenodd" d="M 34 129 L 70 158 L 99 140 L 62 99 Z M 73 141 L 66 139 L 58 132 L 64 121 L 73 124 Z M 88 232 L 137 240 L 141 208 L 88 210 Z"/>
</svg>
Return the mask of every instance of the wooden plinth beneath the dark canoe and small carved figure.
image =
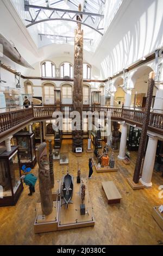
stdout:
<svg viewBox="0 0 163 256">
<path fill-rule="evenodd" d="M 85 215 L 80 215 L 81 199 L 79 196 L 80 184 L 74 182 L 72 203 L 68 204 L 66 209 L 65 204 L 59 209 L 59 223 L 58 230 L 82 228 L 95 225 L 93 217 L 93 208 L 90 202 L 89 191 L 86 186 L 85 190 Z M 61 205 L 61 201 L 60 201 Z"/>
</svg>

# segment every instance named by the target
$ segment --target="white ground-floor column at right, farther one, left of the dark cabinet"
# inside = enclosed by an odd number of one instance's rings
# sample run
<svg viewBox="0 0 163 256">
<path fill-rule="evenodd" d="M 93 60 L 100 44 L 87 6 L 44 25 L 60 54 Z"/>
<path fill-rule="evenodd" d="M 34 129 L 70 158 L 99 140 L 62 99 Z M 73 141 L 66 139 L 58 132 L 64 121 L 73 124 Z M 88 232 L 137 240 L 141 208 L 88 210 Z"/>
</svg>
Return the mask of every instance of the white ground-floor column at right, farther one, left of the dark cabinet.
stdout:
<svg viewBox="0 0 163 256">
<path fill-rule="evenodd" d="M 121 125 L 122 125 L 122 134 L 121 134 L 120 152 L 118 155 L 118 159 L 123 160 L 126 155 L 127 125 L 125 122 L 122 122 Z"/>
</svg>

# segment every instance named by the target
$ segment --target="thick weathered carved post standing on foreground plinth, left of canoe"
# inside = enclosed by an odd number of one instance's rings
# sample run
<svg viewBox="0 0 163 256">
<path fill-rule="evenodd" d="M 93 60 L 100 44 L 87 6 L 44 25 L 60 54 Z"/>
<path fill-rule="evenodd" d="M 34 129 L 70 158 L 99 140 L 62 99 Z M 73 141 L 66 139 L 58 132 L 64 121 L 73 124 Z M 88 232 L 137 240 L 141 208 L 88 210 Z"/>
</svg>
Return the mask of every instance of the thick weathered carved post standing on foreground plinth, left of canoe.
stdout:
<svg viewBox="0 0 163 256">
<path fill-rule="evenodd" d="M 39 190 L 42 214 L 49 215 L 53 210 L 53 201 L 49 162 L 45 142 L 41 143 L 38 147 L 37 162 L 39 164 Z"/>
</svg>

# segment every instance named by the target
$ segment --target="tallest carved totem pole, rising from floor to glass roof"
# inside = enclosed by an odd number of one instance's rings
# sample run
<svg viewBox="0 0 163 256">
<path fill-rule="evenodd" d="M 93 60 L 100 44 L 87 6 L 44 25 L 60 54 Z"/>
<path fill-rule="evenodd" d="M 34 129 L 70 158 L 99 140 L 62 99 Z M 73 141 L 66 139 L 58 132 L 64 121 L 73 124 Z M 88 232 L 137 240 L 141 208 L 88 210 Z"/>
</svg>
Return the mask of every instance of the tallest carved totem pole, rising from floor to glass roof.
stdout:
<svg viewBox="0 0 163 256">
<path fill-rule="evenodd" d="M 79 11 L 82 10 L 79 4 Z M 77 21 L 82 21 L 82 15 L 77 15 Z M 83 148 L 82 111 L 83 111 L 83 30 L 77 22 L 74 37 L 74 83 L 73 83 L 73 110 L 80 113 L 80 127 L 72 132 L 73 152 L 77 147 Z"/>
</svg>

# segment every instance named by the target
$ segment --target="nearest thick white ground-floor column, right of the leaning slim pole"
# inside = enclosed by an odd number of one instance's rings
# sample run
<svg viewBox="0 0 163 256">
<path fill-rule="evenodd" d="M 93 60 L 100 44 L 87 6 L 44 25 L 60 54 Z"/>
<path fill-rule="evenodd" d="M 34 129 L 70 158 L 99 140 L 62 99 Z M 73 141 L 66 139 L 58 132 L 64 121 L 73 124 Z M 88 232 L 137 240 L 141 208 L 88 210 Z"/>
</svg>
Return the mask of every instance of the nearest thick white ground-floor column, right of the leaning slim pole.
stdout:
<svg viewBox="0 0 163 256">
<path fill-rule="evenodd" d="M 141 183 L 145 187 L 152 187 L 151 180 L 152 180 L 157 144 L 158 144 L 158 138 L 149 136 L 145 161 L 143 164 L 142 177 L 140 179 Z"/>
</svg>

